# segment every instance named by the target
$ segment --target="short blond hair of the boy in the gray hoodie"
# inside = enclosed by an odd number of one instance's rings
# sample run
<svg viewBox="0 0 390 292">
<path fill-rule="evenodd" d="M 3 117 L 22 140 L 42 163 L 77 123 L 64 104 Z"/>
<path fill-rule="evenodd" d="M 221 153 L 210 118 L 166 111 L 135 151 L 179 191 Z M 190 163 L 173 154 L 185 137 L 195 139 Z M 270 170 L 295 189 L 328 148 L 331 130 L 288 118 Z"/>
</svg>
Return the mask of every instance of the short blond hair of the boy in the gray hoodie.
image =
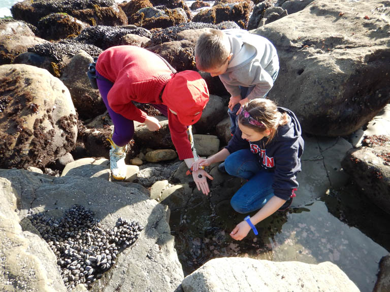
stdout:
<svg viewBox="0 0 390 292">
<path fill-rule="evenodd" d="M 209 28 L 199 36 L 195 47 L 198 70 L 221 66 L 228 58 L 230 51 L 228 35 L 219 29 Z"/>
</svg>

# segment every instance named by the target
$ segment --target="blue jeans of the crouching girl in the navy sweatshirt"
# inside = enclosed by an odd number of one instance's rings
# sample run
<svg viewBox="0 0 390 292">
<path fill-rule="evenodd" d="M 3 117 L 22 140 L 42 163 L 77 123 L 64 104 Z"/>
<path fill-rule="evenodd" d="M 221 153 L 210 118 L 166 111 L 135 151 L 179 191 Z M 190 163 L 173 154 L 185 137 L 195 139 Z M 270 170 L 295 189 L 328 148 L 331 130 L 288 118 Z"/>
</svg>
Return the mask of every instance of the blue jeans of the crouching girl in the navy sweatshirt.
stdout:
<svg viewBox="0 0 390 292">
<path fill-rule="evenodd" d="M 258 155 L 242 149 L 229 155 L 225 169 L 231 175 L 248 179 L 230 201 L 233 209 L 245 214 L 261 209 L 273 196 L 274 173 L 265 170 L 258 162 Z"/>
</svg>

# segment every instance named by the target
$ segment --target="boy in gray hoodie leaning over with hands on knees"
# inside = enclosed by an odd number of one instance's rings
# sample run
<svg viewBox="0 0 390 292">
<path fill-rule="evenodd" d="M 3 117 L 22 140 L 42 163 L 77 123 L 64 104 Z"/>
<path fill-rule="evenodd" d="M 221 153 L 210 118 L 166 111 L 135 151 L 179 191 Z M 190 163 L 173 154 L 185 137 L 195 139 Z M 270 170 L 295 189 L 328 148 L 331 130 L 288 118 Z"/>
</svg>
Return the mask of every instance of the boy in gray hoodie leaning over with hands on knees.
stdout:
<svg viewBox="0 0 390 292">
<path fill-rule="evenodd" d="M 236 115 L 242 104 L 265 98 L 279 72 L 275 47 L 263 36 L 244 29 L 208 29 L 195 48 L 198 70 L 219 76 L 231 94 L 228 114 L 231 133 L 236 131 Z"/>
</svg>

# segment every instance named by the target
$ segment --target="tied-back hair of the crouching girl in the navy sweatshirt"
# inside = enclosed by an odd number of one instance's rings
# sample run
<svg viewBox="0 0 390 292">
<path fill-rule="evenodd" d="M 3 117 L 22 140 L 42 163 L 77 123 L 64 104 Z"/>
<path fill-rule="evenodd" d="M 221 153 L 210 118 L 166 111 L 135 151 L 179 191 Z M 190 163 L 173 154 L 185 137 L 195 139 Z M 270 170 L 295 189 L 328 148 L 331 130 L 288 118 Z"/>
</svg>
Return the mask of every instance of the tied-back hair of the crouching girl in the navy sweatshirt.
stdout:
<svg viewBox="0 0 390 292">
<path fill-rule="evenodd" d="M 287 113 L 279 112 L 276 102 L 266 98 L 255 98 L 243 105 L 243 109 L 249 113 L 250 117 L 259 123 L 262 123 L 264 127 L 259 127 L 249 123 L 250 118 L 246 118 L 244 115 L 238 116 L 238 121 L 241 125 L 251 128 L 252 130 L 263 133 L 269 129 L 270 135 L 268 136 L 267 144 L 275 137 L 278 132 L 279 126 L 283 126 L 288 123 Z"/>
</svg>

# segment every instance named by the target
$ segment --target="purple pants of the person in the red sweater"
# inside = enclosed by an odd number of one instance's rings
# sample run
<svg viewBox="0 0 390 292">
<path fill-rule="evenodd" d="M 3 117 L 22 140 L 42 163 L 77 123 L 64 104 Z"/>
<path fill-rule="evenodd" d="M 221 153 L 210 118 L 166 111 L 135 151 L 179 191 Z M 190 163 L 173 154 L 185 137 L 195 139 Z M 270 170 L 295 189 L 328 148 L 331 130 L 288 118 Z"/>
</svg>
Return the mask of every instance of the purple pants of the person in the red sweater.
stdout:
<svg viewBox="0 0 390 292">
<path fill-rule="evenodd" d="M 112 123 L 114 124 L 114 134 L 112 135 L 112 140 L 119 147 L 122 147 L 126 145 L 133 138 L 134 122 L 133 120 L 128 120 L 122 115 L 115 113 L 112 110 L 112 108 L 108 104 L 107 95 L 111 87 L 113 86 L 113 83 L 105 79 L 103 76 L 101 76 L 98 71 L 96 71 L 96 76 L 98 76 L 97 81 L 98 81 L 100 94 L 102 95 L 104 104 L 107 107 L 108 114 L 110 115 Z M 161 114 L 168 117 L 167 105 L 165 104 L 150 104 L 150 105 L 158 109 L 158 111 L 160 111 Z"/>
</svg>

